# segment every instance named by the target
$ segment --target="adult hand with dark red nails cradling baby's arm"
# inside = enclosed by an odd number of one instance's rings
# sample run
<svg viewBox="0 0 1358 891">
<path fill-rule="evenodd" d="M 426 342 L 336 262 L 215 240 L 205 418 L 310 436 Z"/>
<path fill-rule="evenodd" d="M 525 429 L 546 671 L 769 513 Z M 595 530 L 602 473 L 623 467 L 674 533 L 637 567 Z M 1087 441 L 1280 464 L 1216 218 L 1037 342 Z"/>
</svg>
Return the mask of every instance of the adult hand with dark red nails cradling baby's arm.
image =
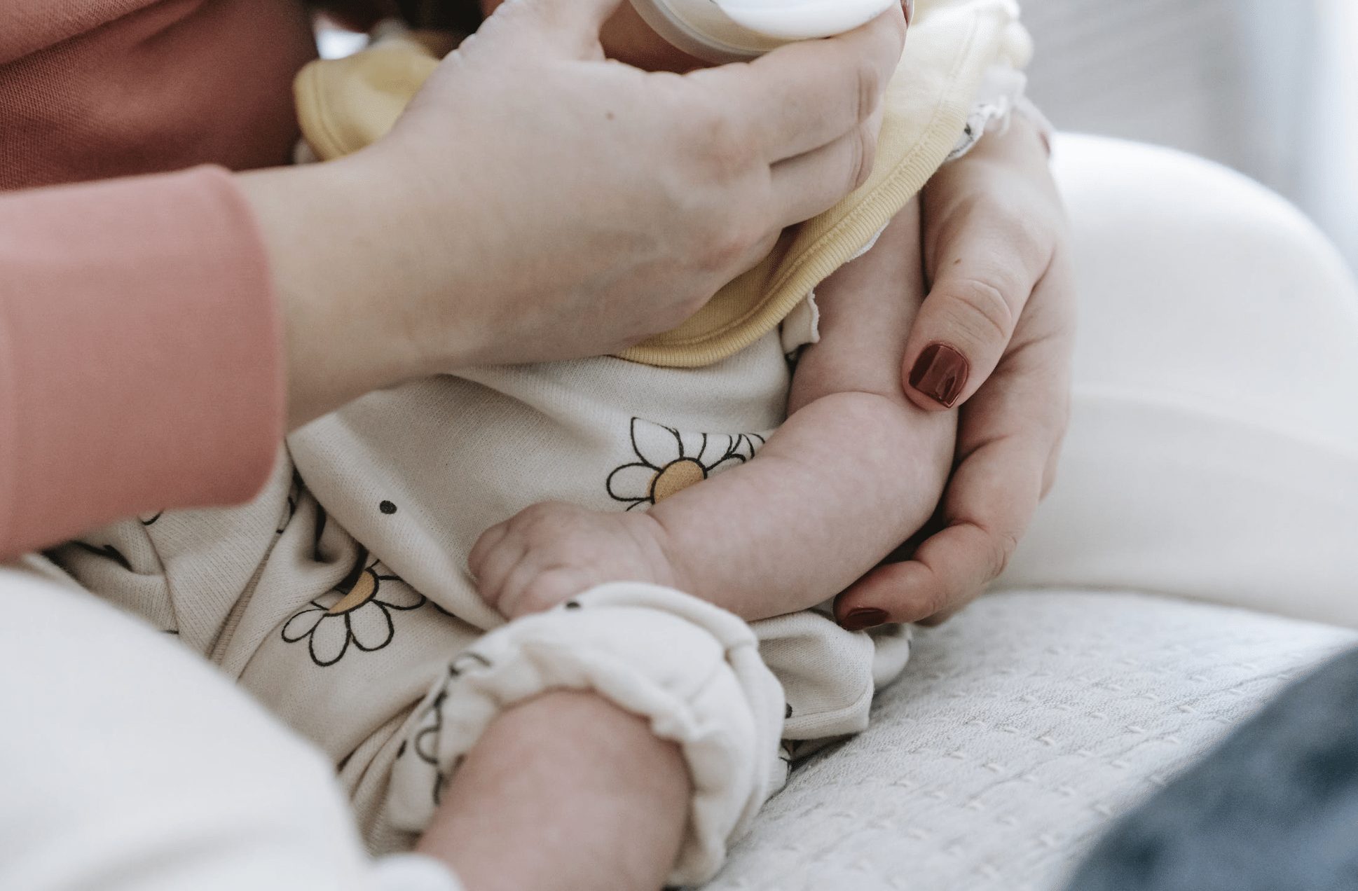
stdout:
<svg viewBox="0 0 1358 891">
<path fill-rule="evenodd" d="M 932 287 L 906 346 L 922 409 L 960 407 L 952 479 L 910 558 L 843 592 L 850 628 L 937 622 L 1005 568 L 1051 488 L 1070 412 L 1076 292 L 1042 139 L 1019 118 L 925 187 Z"/>
</svg>

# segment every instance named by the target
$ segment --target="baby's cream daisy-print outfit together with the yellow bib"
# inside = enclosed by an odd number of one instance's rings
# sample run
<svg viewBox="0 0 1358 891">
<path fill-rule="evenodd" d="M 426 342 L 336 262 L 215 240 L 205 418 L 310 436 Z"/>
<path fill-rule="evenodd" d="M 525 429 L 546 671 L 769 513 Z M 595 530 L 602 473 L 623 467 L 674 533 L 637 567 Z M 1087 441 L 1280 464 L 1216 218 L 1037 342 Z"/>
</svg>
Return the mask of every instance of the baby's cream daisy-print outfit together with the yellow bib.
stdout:
<svg viewBox="0 0 1358 891">
<path fill-rule="evenodd" d="M 644 511 L 755 456 L 785 416 L 788 354 L 816 338 L 813 287 L 964 139 L 987 72 L 1020 67 L 1027 39 L 1006 0 L 922 0 L 910 50 L 869 182 L 679 329 L 615 357 L 369 394 L 293 433 L 251 504 L 114 524 L 53 558 L 323 747 L 375 853 L 413 845 L 497 713 L 589 689 L 679 743 L 694 800 L 671 881 L 706 880 L 790 759 L 866 725 L 906 664 L 906 629 L 845 632 L 826 608 L 747 625 L 634 583 L 505 623 L 467 554 L 532 504 Z M 433 64 L 397 39 L 308 68 L 311 147 L 378 139 Z"/>
</svg>

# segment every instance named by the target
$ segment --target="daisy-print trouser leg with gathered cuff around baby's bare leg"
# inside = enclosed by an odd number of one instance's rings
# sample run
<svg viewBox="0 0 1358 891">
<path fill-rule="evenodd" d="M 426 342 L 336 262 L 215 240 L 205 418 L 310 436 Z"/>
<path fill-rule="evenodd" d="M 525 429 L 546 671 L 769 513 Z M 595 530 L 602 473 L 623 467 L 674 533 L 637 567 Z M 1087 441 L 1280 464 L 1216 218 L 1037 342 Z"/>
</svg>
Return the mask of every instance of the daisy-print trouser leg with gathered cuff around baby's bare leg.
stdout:
<svg viewBox="0 0 1358 891">
<path fill-rule="evenodd" d="M 737 617 L 615 583 L 482 632 L 357 557 L 359 581 L 276 622 L 240 682 L 338 765 L 372 853 L 410 849 L 488 727 L 553 690 L 591 691 L 678 743 L 694 793 L 672 883 L 709 879 L 781 784 L 782 690 Z"/>
</svg>

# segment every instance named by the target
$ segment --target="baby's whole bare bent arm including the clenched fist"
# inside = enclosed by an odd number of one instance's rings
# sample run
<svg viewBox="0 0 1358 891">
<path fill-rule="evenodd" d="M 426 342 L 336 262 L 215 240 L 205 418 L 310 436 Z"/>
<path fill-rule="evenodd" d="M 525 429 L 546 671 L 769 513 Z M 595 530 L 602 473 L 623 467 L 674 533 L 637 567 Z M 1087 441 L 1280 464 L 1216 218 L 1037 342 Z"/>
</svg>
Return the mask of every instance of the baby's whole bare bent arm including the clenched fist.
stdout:
<svg viewBox="0 0 1358 891">
<path fill-rule="evenodd" d="M 646 513 L 530 508 L 473 550 L 482 596 L 515 617 L 604 581 L 653 581 L 754 621 L 815 606 L 876 565 L 929 519 L 952 466 L 955 416 L 900 390 L 919 254 L 911 204 L 820 287 L 822 340 L 754 460 Z"/>
</svg>

